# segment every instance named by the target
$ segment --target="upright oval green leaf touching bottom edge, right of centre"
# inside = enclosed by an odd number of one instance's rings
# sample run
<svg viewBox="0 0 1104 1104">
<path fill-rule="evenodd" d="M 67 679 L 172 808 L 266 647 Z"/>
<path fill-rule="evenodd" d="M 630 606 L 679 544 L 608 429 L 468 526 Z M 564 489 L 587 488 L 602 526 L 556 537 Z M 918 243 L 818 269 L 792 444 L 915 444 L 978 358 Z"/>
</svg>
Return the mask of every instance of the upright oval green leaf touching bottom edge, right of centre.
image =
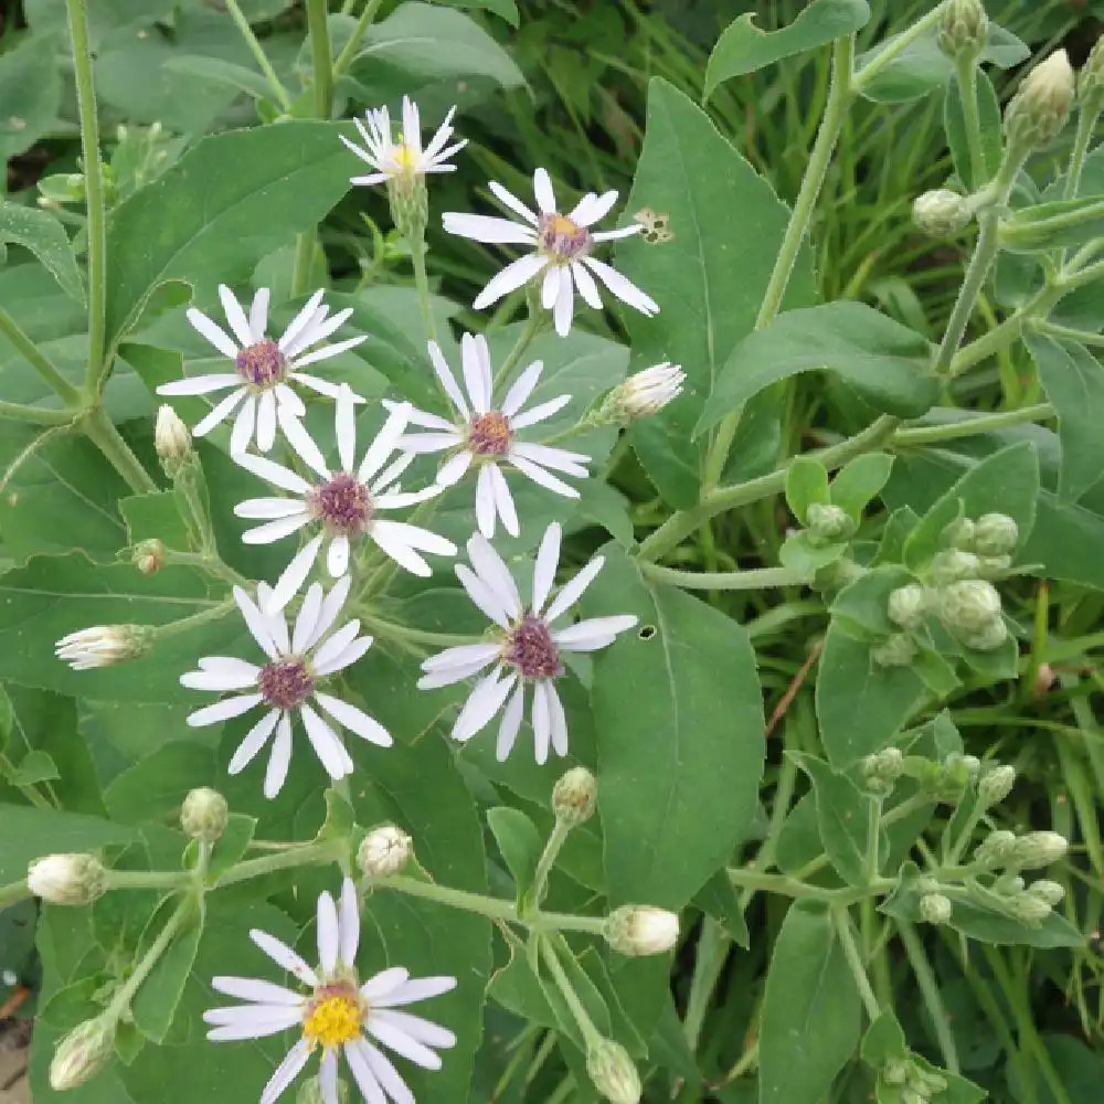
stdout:
<svg viewBox="0 0 1104 1104">
<path fill-rule="evenodd" d="M 825 1096 L 859 1042 L 860 1012 L 827 907 L 796 901 L 782 922 L 766 975 L 760 1104 L 813 1104 Z"/>
</svg>

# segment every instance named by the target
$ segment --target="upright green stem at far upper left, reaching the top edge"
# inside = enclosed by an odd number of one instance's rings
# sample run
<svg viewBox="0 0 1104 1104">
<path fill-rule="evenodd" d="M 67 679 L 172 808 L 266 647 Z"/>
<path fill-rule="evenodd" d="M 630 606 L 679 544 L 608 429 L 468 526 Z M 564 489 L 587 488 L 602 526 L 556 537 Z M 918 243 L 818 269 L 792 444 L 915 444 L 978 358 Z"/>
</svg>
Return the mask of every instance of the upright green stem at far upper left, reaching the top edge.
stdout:
<svg viewBox="0 0 1104 1104">
<path fill-rule="evenodd" d="M 88 212 L 88 363 L 85 369 L 84 393 L 93 402 L 99 396 L 100 376 L 105 374 L 107 367 L 104 364 L 107 343 L 107 206 L 104 199 L 104 167 L 99 159 L 99 119 L 96 115 L 96 85 L 88 40 L 88 10 L 86 0 L 65 0 L 65 7 L 73 44 L 73 75 L 76 81 L 77 113 L 81 117 L 81 155 Z"/>
</svg>

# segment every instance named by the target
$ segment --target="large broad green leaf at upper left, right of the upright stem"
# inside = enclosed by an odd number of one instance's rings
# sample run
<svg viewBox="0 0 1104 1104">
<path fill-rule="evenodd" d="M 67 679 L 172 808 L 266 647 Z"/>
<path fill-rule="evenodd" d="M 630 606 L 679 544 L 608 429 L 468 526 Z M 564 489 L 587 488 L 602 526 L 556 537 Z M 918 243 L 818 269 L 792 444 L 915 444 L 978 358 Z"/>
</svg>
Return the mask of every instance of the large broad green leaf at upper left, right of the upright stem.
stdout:
<svg viewBox="0 0 1104 1104">
<path fill-rule="evenodd" d="M 163 284 L 202 296 L 235 284 L 287 238 L 314 227 L 349 190 L 349 152 L 332 123 L 289 119 L 211 135 L 112 214 L 112 347 Z M 176 301 L 180 301 L 180 288 Z"/>
</svg>

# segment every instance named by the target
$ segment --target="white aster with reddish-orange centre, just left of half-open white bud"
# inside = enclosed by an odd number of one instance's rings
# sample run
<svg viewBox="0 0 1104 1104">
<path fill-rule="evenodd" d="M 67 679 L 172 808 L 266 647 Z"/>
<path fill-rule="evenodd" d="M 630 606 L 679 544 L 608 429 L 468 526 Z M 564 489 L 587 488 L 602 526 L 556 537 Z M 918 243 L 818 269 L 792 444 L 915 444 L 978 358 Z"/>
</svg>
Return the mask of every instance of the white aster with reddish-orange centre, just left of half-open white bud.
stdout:
<svg viewBox="0 0 1104 1104">
<path fill-rule="evenodd" d="M 544 367 L 541 361 L 530 364 L 496 406 L 487 339 L 482 335 L 473 337 L 465 333 L 460 341 L 460 352 L 467 399 L 457 386 L 440 347 L 436 341 L 429 342 L 429 359 L 445 394 L 455 407 L 456 416 L 450 422 L 436 414 L 412 410 L 410 421 L 432 432 L 408 433 L 400 440 L 399 447 L 410 453 L 450 452 L 452 455 L 437 473 L 437 482 L 442 487 L 450 487 L 457 482 L 475 461 L 479 468 L 476 479 L 476 519 L 479 531 L 485 537 L 493 537 L 496 518 L 501 518 L 506 531 L 511 537 L 517 537 L 521 532 L 518 511 L 502 475 L 502 466 L 517 468 L 533 482 L 565 498 L 578 498 L 577 490 L 548 469 L 585 479 L 588 473 L 582 465 L 590 463 L 591 458 L 582 453 L 517 439 L 519 431 L 552 417 L 571 402 L 571 395 L 558 395 L 522 411 L 521 407 L 540 381 Z"/>
</svg>

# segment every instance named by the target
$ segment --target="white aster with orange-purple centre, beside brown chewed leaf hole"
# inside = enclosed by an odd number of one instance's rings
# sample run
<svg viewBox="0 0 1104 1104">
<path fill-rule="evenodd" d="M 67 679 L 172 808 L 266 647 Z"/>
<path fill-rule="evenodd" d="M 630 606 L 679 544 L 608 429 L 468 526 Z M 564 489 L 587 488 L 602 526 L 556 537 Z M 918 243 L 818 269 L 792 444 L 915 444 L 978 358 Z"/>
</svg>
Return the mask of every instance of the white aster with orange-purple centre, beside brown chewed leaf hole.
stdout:
<svg viewBox="0 0 1104 1104">
<path fill-rule="evenodd" d="M 643 225 L 634 223 L 619 230 L 591 231 L 590 227 L 617 202 L 617 192 L 602 195 L 587 192 L 569 214 L 563 215 L 556 210 L 551 178 L 544 169 L 538 169 L 533 173 L 533 191 L 540 214 L 535 214 L 501 184 L 491 181 L 488 187 L 521 221 L 449 211 L 444 216 L 445 230 L 489 245 L 529 245 L 533 252 L 507 265 L 491 279 L 476 297 L 476 310 L 489 307 L 543 273 L 541 305 L 553 312 L 556 333 L 566 337 L 571 331 L 576 289 L 584 302 L 596 310 L 602 309 L 593 273 L 622 302 L 649 317 L 659 314 L 656 301 L 631 280 L 591 256 L 599 242 L 629 237 L 644 230 Z"/>
</svg>

